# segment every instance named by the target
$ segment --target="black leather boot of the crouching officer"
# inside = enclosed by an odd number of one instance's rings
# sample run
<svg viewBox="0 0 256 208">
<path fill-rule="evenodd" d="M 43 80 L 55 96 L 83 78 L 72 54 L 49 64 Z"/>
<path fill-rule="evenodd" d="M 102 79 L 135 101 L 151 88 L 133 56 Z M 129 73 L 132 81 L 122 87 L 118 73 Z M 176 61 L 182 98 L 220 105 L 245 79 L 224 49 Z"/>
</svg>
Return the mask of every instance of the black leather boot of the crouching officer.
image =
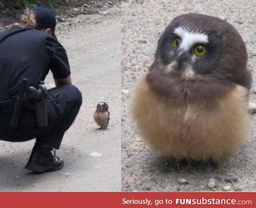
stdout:
<svg viewBox="0 0 256 208">
<path fill-rule="evenodd" d="M 36 142 L 25 169 L 37 173 L 44 173 L 60 170 L 63 164 L 63 159 L 55 156 L 54 148 Z"/>
</svg>

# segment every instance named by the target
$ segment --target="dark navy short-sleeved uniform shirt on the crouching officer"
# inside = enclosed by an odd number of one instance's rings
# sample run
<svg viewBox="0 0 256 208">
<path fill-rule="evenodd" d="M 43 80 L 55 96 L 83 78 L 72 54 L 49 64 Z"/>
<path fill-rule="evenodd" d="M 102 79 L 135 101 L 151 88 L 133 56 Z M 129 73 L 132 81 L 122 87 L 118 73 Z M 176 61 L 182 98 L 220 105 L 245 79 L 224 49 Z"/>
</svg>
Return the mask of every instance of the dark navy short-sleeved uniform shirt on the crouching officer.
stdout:
<svg viewBox="0 0 256 208">
<path fill-rule="evenodd" d="M 70 75 L 66 51 L 55 37 L 34 29 L 7 37 L 0 43 L 0 101 L 18 92 L 22 78 L 36 86 L 50 69 L 55 79 Z"/>
</svg>

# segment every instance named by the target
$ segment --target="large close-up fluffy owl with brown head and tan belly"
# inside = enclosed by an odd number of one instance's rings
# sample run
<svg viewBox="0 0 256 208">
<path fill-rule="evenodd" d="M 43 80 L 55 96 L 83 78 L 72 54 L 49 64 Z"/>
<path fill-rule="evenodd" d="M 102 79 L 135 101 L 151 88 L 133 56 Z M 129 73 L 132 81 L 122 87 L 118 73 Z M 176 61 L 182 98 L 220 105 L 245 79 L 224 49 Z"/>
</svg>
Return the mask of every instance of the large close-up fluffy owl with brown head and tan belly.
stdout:
<svg viewBox="0 0 256 208">
<path fill-rule="evenodd" d="M 230 155 L 250 133 L 246 67 L 243 39 L 227 21 L 192 13 L 174 18 L 133 91 L 139 132 L 165 157 Z"/>
</svg>

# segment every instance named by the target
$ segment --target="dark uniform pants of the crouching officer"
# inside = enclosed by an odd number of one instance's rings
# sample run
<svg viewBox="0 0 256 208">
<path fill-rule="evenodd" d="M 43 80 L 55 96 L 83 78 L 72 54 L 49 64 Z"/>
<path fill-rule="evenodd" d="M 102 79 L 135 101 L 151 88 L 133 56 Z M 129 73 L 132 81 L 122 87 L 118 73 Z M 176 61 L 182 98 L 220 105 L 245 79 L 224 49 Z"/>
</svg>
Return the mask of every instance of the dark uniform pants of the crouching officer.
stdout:
<svg viewBox="0 0 256 208">
<path fill-rule="evenodd" d="M 37 127 L 34 110 L 23 109 L 18 126 L 10 127 L 10 113 L 0 115 L 0 140 L 20 142 L 36 138 L 59 149 L 65 131 L 74 122 L 82 105 L 82 94 L 74 85 L 50 89 L 47 96 L 48 126 Z"/>
</svg>

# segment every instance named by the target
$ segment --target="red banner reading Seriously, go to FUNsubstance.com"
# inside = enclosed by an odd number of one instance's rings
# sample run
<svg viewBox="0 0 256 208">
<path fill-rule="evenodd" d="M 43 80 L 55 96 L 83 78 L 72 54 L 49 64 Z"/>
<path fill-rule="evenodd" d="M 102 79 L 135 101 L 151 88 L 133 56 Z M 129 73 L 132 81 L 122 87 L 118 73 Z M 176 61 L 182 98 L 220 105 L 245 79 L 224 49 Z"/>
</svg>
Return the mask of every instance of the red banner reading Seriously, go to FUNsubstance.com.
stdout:
<svg viewBox="0 0 256 208">
<path fill-rule="evenodd" d="M 255 192 L 0 193 L 1 207 L 255 207 Z"/>
</svg>

